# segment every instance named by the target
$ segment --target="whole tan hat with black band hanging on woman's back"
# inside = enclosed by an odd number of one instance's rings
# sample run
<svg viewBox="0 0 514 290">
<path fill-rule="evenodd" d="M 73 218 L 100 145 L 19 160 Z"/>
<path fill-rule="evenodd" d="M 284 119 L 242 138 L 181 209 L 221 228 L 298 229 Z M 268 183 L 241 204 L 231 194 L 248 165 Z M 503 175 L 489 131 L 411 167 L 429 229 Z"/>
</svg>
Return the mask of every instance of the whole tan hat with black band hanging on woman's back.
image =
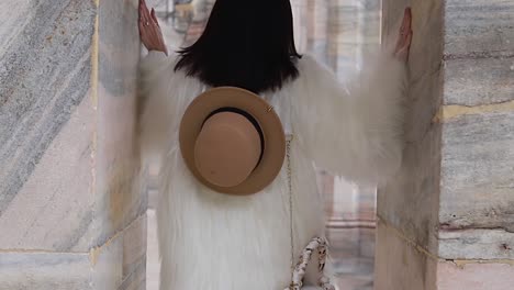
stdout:
<svg viewBox="0 0 514 290">
<path fill-rule="evenodd" d="M 286 157 L 286 136 L 273 108 L 235 87 L 197 97 L 180 124 L 180 150 L 194 177 L 228 194 L 252 194 L 271 183 Z"/>
</svg>

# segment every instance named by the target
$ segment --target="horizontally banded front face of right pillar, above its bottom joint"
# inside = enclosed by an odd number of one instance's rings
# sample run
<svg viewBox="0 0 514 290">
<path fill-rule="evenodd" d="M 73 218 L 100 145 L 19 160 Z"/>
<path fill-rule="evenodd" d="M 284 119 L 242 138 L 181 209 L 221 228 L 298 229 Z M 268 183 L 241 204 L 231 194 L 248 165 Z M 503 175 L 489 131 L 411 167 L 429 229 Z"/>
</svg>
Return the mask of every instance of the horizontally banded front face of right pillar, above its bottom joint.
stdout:
<svg viewBox="0 0 514 290">
<path fill-rule="evenodd" d="M 514 259 L 514 2 L 445 18 L 439 256 Z"/>
</svg>

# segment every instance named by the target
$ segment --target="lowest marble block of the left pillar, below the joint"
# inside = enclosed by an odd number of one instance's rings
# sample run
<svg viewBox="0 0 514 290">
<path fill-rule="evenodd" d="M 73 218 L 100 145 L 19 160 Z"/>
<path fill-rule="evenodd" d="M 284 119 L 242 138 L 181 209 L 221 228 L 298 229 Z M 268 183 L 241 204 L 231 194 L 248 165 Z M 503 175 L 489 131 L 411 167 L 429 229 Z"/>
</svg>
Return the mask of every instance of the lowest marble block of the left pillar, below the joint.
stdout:
<svg viewBox="0 0 514 290">
<path fill-rule="evenodd" d="M 146 216 L 90 253 L 0 253 L 0 290 L 145 290 Z"/>
</svg>

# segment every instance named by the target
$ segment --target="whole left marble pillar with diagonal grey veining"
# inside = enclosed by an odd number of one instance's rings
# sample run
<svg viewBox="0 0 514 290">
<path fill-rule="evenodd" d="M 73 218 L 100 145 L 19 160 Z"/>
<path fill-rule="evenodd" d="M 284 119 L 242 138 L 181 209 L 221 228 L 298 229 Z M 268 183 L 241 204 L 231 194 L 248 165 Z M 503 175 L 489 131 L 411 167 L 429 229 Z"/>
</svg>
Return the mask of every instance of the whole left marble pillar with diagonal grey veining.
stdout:
<svg viewBox="0 0 514 290">
<path fill-rule="evenodd" d="M 137 0 L 0 11 L 0 289 L 145 289 Z"/>
</svg>

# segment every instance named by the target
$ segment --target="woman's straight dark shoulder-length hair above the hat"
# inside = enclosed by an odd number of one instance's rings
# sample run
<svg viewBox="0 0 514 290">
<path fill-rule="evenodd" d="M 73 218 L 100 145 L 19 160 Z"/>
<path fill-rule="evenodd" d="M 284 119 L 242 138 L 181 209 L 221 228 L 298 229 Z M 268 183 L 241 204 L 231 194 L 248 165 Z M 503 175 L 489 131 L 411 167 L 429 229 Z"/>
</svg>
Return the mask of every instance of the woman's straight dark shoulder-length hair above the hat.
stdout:
<svg viewBox="0 0 514 290">
<path fill-rule="evenodd" d="M 203 34 L 175 70 L 213 86 L 277 90 L 298 77 L 289 0 L 216 0 Z"/>
</svg>

